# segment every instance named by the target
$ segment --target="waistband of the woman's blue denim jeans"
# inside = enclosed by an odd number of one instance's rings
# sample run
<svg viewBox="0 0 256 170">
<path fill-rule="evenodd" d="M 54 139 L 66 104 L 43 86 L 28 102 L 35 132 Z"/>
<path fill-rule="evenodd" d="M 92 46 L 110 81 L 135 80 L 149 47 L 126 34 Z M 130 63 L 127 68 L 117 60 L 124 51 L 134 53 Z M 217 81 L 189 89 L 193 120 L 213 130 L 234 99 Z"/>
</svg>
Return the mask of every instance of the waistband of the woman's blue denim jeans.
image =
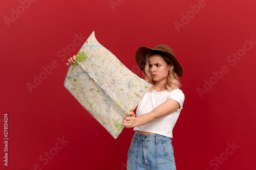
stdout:
<svg viewBox="0 0 256 170">
<path fill-rule="evenodd" d="M 173 138 L 171 137 L 166 137 L 163 135 L 159 135 L 159 134 L 155 134 L 155 135 L 145 135 L 145 134 L 140 134 L 135 132 L 134 133 L 134 138 L 138 140 L 138 142 L 140 143 L 140 141 L 157 141 L 158 140 L 173 140 Z"/>
</svg>

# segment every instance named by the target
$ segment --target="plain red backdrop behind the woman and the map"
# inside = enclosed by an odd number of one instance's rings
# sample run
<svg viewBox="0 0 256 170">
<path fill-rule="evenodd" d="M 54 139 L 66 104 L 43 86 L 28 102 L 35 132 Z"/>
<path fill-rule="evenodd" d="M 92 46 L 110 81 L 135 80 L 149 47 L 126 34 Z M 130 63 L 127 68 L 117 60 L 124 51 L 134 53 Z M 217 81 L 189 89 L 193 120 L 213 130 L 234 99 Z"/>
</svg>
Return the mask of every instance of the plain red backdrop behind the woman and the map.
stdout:
<svg viewBox="0 0 256 170">
<path fill-rule="evenodd" d="M 139 46 L 167 44 L 175 51 L 184 69 L 185 94 L 173 132 L 177 169 L 255 168 L 256 44 L 241 49 L 245 39 L 256 42 L 256 2 L 200 3 L 35 1 L 24 8 L 18 0 L 1 1 L 0 169 L 126 169 L 133 130 L 124 129 L 114 139 L 63 86 L 66 61 L 81 47 L 71 49 L 75 34 L 87 38 L 93 31 L 140 77 L 135 62 Z M 192 12 L 190 6 L 198 4 L 204 7 Z M 175 23 L 182 21 L 177 29 Z M 66 55 L 61 50 L 68 46 Z M 238 51 L 243 57 L 228 62 Z M 27 83 L 34 84 L 34 75 L 42 75 L 52 61 L 56 68 L 30 91 Z M 201 96 L 199 88 L 205 90 Z M 3 161 L 4 113 L 9 115 L 8 167 Z M 65 146 L 58 138 L 65 139 Z M 54 149 L 56 144 L 61 149 Z M 46 161 L 49 151 L 54 156 Z"/>
</svg>

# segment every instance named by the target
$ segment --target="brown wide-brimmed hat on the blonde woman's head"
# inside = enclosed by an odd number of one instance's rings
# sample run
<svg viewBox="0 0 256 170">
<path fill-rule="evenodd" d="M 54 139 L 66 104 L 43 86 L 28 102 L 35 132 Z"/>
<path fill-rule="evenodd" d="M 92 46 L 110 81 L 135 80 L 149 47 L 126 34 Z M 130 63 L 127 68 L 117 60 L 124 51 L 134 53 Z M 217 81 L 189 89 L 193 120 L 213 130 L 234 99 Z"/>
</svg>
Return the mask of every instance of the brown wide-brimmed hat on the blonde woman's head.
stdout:
<svg viewBox="0 0 256 170">
<path fill-rule="evenodd" d="M 174 65 L 174 72 L 176 72 L 179 77 L 183 75 L 183 69 L 179 61 L 175 58 L 174 51 L 169 46 L 163 44 L 157 45 L 155 48 L 150 48 L 146 46 L 141 46 L 138 48 L 135 58 L 138 66 L 142 71 L 146 66 L 146 55 L 150 52 L 162 52 L 166 54 L 170 58 L 170 60 L 172 60 L 172 63 Z"/>
</svg>

